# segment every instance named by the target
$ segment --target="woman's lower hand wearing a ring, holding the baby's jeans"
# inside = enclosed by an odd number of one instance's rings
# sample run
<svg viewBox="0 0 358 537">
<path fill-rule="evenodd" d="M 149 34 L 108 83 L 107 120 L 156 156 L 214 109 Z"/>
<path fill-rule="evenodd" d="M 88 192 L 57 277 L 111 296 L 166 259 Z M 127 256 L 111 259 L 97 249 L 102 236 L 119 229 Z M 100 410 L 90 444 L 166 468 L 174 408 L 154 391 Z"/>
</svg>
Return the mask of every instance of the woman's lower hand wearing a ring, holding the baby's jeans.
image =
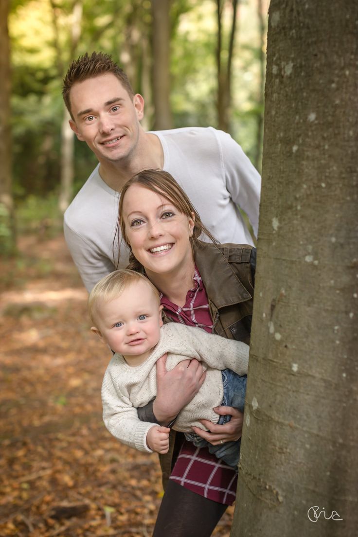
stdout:
<svg viewBox="0 0 358 537">
<path fill-rule="evenodd" d="M 225 442 L 230 442 L 231 440 L 238 440 L 243 432 L 243 413 L 232 407 L 216 407 L 214 411 L 220 415 L 229 414 L 231 416 L 230 422 L 224 425 L 217 425 L 208 419 L 201 419 L 201 423 L 210 432 L 203 431 L 199 427 L 193 427 L 193 431 L 210 442 L 210 444 L 213 444 L 213 446 L 225 444 Z"/>
</svg>

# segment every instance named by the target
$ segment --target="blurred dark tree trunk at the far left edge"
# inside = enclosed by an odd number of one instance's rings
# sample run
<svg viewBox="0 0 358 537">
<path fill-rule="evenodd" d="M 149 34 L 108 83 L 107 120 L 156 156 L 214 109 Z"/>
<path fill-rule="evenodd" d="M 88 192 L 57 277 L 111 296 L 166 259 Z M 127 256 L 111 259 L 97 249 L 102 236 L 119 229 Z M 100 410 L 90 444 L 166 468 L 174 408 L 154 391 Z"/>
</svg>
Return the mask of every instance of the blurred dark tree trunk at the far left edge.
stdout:
<svg viewBox="0 0 358 537">
<path fill-rule="evenodd" d="M 16 229 L 12 199 L 11 129 L 10 129 L 10 40 L 8 31 L 9 1 L 0 2 L 0 245 L 13 253 Z"/>
</svg>

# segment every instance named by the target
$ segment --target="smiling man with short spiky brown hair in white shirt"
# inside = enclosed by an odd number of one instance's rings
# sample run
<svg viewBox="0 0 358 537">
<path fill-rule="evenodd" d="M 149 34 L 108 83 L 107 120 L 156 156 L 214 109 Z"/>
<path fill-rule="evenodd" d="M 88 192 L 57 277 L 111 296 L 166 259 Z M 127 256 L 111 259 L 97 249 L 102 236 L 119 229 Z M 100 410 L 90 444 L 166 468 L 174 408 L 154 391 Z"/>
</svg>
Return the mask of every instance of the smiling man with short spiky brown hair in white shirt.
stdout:
<svg viewBox="0 0 358 537">
<path fill-rule="evenodd" d="M 63 98 L 72 130 L 99 161 L 64 214 L 65 239 L 88 291 L 117 266 L 120 191 L 145 168 L 170 172 L 219 242 L 252 244 L 237 205 L 257 235 L 260 176 L 229 134 L 211 127 L 145 132 L 143 97 L 103 53 L 72 62 Z M 120 245 L 118 266 L 127 262 Z"/>
</svg>

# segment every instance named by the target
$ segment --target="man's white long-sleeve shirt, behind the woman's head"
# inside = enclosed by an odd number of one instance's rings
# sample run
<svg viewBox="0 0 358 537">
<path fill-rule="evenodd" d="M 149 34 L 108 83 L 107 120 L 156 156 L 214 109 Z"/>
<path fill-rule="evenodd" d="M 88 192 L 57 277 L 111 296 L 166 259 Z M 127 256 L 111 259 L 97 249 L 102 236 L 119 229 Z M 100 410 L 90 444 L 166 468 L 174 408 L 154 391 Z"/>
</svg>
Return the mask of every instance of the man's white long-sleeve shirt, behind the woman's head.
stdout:
<svg viewBox="0 0 358 537">
<path fill-rule="evenodd" d="M 238 206 L 257 236 L 261 178 L 239 144 L 212 127 L 152 134 L 163 147 L 163 169 L 184 189 L 218 242 L 253 244 Z M 119 196 L 101 179 L 98 165 L 64 214 L 65 240 L 88 291 L 116 268 Z M 127 264 L 128 249 L 122 243 L 118 268 Z"/>
</svg>

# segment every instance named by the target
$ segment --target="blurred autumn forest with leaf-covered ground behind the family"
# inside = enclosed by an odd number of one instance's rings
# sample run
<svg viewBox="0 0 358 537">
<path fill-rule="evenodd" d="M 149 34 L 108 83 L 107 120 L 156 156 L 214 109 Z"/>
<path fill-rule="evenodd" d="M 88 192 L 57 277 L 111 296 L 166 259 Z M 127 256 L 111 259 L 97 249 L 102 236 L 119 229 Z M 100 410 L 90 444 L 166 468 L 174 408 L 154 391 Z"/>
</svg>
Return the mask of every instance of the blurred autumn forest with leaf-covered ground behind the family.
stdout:
<svg viewBox="0 0 358 537">
<path fill-rule="evenodd" d="M 62 213 L 96 165 L 68 128 L 72 59 L 110 53 L 145 99 L 143 127 L 214 126 L 260 170 L 268 0 L 1 0 L 1 535 L 150 535 L 157 457 L 101 422 L 108 355 Z M 6 24 L 7 23 L 7 24 Z M 230 508 L 215 535 L 228 536 Z"/>
</svg>

